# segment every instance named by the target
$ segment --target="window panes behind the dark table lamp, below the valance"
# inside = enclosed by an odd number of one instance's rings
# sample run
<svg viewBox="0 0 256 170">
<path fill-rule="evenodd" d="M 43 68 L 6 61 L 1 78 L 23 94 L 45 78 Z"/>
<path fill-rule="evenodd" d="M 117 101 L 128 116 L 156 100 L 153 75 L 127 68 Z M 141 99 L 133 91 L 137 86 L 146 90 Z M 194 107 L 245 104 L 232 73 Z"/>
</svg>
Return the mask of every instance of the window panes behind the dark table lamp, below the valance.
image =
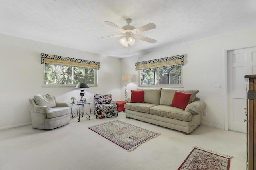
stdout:
<svg viewBox="0 0 256 170">
<path fill-rule="evenodd" d="M 97 70 L 58 64 L 44 65 L 44 86 L 76 86 L 86 82 L 88 86 L 97 86 Z"/>
</svg>

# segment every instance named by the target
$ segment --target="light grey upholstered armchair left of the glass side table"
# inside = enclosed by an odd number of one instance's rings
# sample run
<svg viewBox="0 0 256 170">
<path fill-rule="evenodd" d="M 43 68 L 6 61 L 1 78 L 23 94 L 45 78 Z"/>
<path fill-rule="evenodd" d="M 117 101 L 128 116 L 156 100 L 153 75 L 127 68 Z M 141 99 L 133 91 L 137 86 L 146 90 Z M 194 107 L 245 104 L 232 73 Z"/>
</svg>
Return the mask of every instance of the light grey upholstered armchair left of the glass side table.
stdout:
<svg viewBox="0 0 256 170">
<path fill-rule="evenodd" d="M 67 103 L 56 102 L 54 96 L 38 94 L 29 103 L 33 128 L 54 129 L 70 121 L 71 108 Z"/>
</svg>

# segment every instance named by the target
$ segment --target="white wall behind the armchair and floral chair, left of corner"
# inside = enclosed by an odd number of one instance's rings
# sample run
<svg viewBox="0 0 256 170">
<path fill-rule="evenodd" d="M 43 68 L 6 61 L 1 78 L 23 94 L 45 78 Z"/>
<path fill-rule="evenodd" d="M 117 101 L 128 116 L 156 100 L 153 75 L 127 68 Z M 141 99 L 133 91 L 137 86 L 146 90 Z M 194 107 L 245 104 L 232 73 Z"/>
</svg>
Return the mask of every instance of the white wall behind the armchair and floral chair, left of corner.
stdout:
<svg viewBox="0 0 256 170">
<path fill-rule="evenodd" d="M 80 90 L 74 87 L 42 87 L 41 53 L 100 62 L 98 87 L 85 89 L 85 96 L 89 102 L 94 101 L 94 94 L 112 94 L 114 100 L 121 100 L 118 58 L 3 34 L 0 40 L 0 129 L 31 123 L 28 98 L 34 94 L 52 94 L 58 102 L 70 102 L 72 96 L 80 98 Z"/>
</svg>

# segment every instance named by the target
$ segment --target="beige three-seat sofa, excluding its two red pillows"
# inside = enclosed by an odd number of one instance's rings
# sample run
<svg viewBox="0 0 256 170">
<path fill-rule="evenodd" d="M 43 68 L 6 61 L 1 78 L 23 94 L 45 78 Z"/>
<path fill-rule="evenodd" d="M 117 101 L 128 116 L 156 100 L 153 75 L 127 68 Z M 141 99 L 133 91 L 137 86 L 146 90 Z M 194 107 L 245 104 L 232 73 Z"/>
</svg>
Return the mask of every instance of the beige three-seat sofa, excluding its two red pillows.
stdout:
<svg viewBox="0 0 256 170">
<path fill-rule="evenodd" d="M 206 104 L 196 97 L 198 90 L 137 89 L 144 90 L 144 103 L 131 103 L 128 98 L 124 105 L 126 117 L 182 131 L 189 135 L 201 124 L 201 113 Z M 191 94 L 186 109 L 170 106 L 175 91 Z"/>
</svg>

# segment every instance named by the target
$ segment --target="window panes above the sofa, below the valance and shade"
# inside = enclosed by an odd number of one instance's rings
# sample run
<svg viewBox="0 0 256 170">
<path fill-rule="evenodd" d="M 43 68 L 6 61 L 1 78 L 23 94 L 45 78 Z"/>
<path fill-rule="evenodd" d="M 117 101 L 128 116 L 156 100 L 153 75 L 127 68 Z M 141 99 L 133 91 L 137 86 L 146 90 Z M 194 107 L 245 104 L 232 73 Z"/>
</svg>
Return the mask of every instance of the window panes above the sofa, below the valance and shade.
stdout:
<svg viewBox="0 0 256 170">
<path fill-rule="evenodd" d="M 139 70 L 139 86 L 182 86 L 182 67 L 167 66 Z"/>
</svg>

